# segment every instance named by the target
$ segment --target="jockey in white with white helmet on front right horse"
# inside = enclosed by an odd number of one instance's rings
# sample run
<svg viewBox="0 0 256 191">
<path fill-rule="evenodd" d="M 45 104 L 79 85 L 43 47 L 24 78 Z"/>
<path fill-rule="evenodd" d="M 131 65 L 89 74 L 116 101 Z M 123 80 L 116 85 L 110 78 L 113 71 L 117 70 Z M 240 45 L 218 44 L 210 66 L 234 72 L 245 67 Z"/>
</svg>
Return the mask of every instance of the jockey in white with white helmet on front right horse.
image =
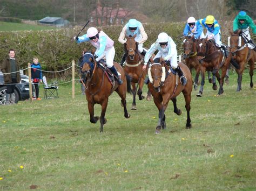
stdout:
<svg viewBox="0 0 256 191">
<path fill-rule="evenodd" d="M 171 37 L 168 36 L 165 32 L 161 32 L 158 35 L 157 41 L 153 43 L 150 49 L 147 51 L 145 55 L 145 62 L 143 66 L 143 70 L 147 67 L 147 62 L 150 59 L 150 56 L 158 50 L 157 55 L 154 57 L 154 62 L 159 62 L 160 57 L 164 57 L 166 63 L 169 63 L 171 67 L 179 74 L 180 82 L 185 86 L 187 83 L 186 77 L 183 75 L 181 68 L 177 63 L 177 49 L 176 44 L 172 40 Z"/>
</svg>

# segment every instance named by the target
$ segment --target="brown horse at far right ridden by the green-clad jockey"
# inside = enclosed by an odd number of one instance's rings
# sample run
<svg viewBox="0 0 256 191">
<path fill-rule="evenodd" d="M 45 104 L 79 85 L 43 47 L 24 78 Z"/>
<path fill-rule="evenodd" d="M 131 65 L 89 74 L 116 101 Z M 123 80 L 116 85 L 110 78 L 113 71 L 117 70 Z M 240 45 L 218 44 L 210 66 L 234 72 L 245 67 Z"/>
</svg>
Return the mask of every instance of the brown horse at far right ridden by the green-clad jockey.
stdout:
<svg viewBox="0 0 256 191">
<path fill-rule="evenodd" d="M 245 65 L 248 62 L 250 66 L 250 87 L 253 87 L 252 76 L 254 69 L 254 62 L 256 61 L 256 53 L 254 49 L 250 49 L 247 46 L 246 39 L 243 38 L 241 30 L 235 32 L 230 32 L 231 37 L 228 37 L 228 46 L 230 46 L 230 51 L 232 53 L 232 59 L 239 63 L 240 68 L 235 69 L 238 74 L 237 79 L 237 91 L 242 89 L 242 73 L 244 72 Z"/>
</svg>

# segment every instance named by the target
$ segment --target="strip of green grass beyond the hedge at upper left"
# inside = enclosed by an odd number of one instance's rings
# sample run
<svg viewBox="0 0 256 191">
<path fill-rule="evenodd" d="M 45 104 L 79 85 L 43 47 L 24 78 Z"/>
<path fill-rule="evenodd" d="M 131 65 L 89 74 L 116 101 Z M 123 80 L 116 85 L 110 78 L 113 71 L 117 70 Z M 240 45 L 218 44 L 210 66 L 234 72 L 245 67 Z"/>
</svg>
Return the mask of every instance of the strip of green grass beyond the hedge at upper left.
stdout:
<svg viewBox="0 0 256 191">
<path fill-rule="evenodd" d="M 39 30 L 50 30 L 50 29 L 57 29 L 57 28 L 53 26 L 0 22 L 0 31 L 29 31 L 29 30 L 39 31 Z"/>
</svg>

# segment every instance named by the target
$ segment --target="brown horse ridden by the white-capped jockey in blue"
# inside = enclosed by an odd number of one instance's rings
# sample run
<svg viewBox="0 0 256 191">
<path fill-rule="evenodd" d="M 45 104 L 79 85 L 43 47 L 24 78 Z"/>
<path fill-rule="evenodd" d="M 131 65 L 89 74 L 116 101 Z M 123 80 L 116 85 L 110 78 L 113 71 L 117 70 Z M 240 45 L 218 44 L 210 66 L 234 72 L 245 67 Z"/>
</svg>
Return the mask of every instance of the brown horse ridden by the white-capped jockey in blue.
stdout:
<svg viewBox="0 0 256 191">
<path fill-rule="evenodd" d="M 197 90 L 198 82 L 199 82 L 199 74 L 200 74 L 200 63 L 197 58 L 197 39 L 194 36 L 185 37 L 183 41 L 183 48 L 184 48 L 184 59 L 187 67 L 190 69 L 192 74 L 192 68 L 196 70 L 196 76 L 194 77 L 194 90 Z M 211 73 L 208 72 L 208 81 L 212 83 Z"/>
</svg>

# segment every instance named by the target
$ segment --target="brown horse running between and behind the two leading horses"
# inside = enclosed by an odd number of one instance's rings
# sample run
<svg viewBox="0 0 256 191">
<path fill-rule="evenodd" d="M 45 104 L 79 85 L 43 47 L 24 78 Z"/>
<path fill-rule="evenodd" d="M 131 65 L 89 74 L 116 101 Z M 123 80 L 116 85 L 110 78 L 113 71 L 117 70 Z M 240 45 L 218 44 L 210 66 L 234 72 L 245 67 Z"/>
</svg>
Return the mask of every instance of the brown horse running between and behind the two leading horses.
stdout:
<svg viewBox="0 0 256 191">
<path fill-rule="evenodd" d="M 124 44 L 124 51 L 126 53 L 125 67 L 124 72 L 126 75 L 131 77 L 131 85 L 132 85 L 132 94 L 133 94 L 133 102 L 132 102 L 132 110 L 136 110 L 136 91 L 138 89 L 139 100 L 143 100 L 145 97 L 142 95 L 142 88 L 144 85 L 144 79 L 146 76 L 146 70 L 143 70 L 142 67 L 144 65 L 144 57 L 138 51 L 138 44 L 135 41 L 136 35 L 133 37 L 128 37 L 125 34 L 125 38 L 127 39 Z M 137 87 L 135 86 L 137 83 Z M 151 95 L 149 91 L 147 93 L 147 100 L 151 100 Z"/>
</svg>

